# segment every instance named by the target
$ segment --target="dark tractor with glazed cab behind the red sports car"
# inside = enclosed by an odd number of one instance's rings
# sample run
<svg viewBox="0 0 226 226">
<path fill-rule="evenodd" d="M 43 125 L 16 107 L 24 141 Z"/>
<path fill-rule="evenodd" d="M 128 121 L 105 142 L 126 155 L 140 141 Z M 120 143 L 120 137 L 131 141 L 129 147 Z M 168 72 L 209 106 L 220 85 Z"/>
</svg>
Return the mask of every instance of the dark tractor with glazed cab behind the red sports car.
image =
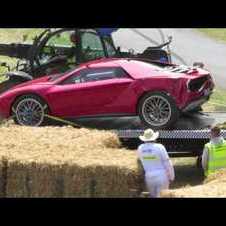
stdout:
<svg viewBox="0 0 226 226">
<path fill-rule="evenodd" d="M 0 94 L 11 87 L 49 74 L 59 74 L 82 63 L 101 58 L 136 58 L 156 64 L 172 64 L 169 45 L 148 47 L 142 53 L 122 52 L 116 48 L 112 32 L 117 29 L 45 29 L 32 44 L 0 44 L 0 55 L 17 58 L 15 68 L 7 67 L 7 78 L 0 84 Z M 142 35 L 142 34 L 141 34 Z M 144 37 L 148 38 L 148 37 Z M 167 47 L 165 50 L 164 48 Z"/>
</svg>

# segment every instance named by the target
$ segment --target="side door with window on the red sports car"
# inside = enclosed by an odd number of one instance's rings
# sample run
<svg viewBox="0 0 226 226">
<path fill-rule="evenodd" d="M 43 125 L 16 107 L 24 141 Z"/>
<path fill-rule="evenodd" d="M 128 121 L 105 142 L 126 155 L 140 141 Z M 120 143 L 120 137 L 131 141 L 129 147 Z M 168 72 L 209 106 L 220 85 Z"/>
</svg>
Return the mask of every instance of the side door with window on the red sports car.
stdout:
<svg viewBox="0 0 226 226">
<path fill-rule="evenodd" d="M 135 98 L 125 97 L 133 82 L 120 68 L 84 69 L 52 88 L 49 98 L 61 117 L 123 114 Z"/>
</svg>

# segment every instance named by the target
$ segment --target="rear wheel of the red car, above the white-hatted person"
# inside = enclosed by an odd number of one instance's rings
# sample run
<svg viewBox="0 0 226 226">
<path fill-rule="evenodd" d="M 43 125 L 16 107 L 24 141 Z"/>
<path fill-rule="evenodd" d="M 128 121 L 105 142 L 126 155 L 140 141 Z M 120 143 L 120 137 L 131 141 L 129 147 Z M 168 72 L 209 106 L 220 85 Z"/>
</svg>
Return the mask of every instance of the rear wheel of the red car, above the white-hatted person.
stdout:
<svg viewBox="0 0 226 226">
<path fill-rule="evenodd" d="M 143 96 L 139 102 L 138 114 L 145 126 L 156 130 L 172 127 L 179 118 L 174 100 L 163 92 Z"/>
</svg>

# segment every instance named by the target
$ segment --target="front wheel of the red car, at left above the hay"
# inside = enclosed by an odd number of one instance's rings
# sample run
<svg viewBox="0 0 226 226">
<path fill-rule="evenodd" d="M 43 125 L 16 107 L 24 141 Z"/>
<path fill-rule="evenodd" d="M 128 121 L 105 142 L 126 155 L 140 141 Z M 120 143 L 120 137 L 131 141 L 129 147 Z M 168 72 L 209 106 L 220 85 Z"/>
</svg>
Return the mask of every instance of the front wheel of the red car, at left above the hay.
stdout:
<svg viewBox="0 0 226 226">
<path fill-rule="evenodd" d="M 47 104 L 36 95 L 19 97 L 12 106 L 14 122 L 22 126 L 41 126 L 48 114 Z"/>
</svg>

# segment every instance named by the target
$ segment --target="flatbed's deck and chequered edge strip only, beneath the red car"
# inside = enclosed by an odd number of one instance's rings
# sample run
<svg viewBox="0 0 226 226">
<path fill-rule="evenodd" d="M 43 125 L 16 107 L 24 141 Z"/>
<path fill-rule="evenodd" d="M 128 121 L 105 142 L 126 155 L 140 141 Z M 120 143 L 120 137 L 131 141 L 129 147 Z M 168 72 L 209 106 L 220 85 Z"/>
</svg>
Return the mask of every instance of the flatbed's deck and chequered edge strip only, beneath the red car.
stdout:
<svg viewBox="0 0 226 226">
<path fill-rule="evenodd" d="M 75 121 L 89 128 L 111 130 L 120 138 L 138 138 L 146 129 L 138 117 L 85 118 Z M 205 112 L 183 115 L 175 126 L 159 131 L 161 139 L 208 139 L 212 125 L 226 122 L 226 112 Z M 222 132 L 226 138 L 226 130 Z"/>
</svg>

